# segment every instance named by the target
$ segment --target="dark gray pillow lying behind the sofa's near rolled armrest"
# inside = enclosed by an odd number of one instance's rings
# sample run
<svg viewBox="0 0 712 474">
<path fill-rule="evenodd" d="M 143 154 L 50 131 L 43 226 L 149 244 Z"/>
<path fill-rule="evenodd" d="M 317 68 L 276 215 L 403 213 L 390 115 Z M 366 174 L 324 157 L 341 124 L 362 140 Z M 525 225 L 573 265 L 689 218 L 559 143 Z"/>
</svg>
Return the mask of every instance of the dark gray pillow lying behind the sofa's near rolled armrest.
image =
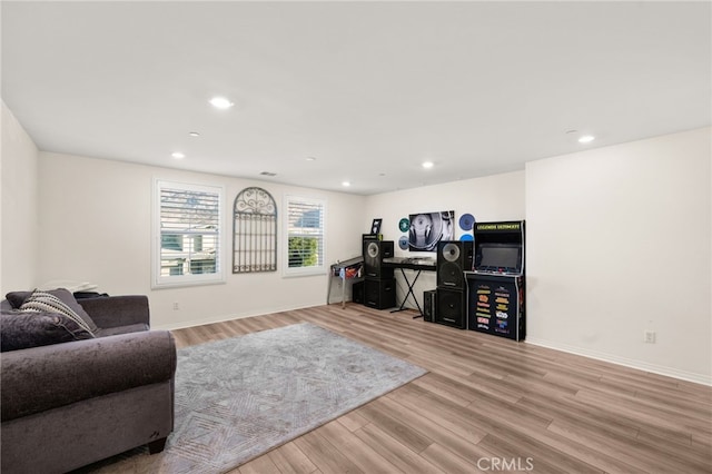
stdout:
<svg viewBox="0 0 712 474">
<path fill-rule="evenodd" d="M 17 350 L 92 338 L 73 319 L 58 313 L 8 312 L 0 316 L 0 350 Z"/>
</svg>

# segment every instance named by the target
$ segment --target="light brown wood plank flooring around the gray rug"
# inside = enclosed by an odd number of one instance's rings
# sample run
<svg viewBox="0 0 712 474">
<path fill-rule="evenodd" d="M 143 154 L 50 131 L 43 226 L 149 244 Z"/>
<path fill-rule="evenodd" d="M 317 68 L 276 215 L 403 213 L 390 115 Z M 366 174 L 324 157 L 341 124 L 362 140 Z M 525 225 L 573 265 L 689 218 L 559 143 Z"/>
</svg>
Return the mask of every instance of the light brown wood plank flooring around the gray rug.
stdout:
<svg viewBox="0 0 712 474">
<path fill-rule="evenodd" d="M 309 322 L 428 374 L 231 474 L 712 473 L 712 388 L 362 305 L 175 330 L 177 345 Z"/>
</svg>

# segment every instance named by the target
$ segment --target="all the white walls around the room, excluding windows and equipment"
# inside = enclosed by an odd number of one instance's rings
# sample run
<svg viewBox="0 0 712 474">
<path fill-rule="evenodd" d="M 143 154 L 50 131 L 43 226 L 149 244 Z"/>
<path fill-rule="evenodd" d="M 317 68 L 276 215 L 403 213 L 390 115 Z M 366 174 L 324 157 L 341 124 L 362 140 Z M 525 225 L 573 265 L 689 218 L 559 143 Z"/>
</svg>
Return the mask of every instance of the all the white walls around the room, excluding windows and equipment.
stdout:
<svg viewBox="0 0 712 474">
<path fill-rule="evenodd" d="M 278 205 L 285 192 L 326 198 L 328 263 L 358 255 L 377 217 L 394 241 L 404 235 L 398 221 L 415 213 L 526 218 L 528 344 L 712 384 L 711 135 L 692 130 L 364 198 L 38 152 L 2 103 L 0 288 L 69 279 L 147 294 L 154 326 L 166 328 L 324 304 L 326 275 L 228 274 L 225 285 L 151 290 L 155 177 L 225 185 L 228 208 L 247 186 L 264 187 Z M 409 254 L 396 246 L 396 255 Z M 400 302 L 405 284 L 398 288 Z M 419 303 L 432 288 L 435 275 L 424 273 Z M 644 330 L 656 333 L 655 344 L 643 343 Z"/>
</svg>

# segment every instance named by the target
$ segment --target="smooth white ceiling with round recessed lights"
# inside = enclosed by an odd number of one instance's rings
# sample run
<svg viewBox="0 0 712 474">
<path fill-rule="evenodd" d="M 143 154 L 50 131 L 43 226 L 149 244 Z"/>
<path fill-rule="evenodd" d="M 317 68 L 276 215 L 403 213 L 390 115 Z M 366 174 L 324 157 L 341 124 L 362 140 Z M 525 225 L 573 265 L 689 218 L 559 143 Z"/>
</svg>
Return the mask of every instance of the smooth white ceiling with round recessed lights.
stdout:
<svg viewBox="0 0 712 474">
<path fill-rule="evenodd" d="M 711 124 L 710 2 L 1 4 L 48 151 L 369 195 Z"/>
</svg>

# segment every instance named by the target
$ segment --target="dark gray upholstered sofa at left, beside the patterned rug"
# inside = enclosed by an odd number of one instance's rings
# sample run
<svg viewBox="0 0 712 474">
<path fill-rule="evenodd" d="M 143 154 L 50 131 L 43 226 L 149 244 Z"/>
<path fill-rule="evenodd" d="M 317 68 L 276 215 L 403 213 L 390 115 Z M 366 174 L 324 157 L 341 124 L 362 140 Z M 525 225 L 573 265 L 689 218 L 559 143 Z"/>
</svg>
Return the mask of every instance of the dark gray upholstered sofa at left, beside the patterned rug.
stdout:
<svg viewBox="0 0 712 474">
<path fill-rule="evenodd" d="M 31 306 L 18 305 L 23 296 L 1 303 L 0 471 L 62 473 L 141 445 L 162 451 L 176 346 L 169 332 L 149 330 L 147 297 L 69 302 L 90 316 L 88 332 L 51 308 L 19 310 Z"/>
</svg>

